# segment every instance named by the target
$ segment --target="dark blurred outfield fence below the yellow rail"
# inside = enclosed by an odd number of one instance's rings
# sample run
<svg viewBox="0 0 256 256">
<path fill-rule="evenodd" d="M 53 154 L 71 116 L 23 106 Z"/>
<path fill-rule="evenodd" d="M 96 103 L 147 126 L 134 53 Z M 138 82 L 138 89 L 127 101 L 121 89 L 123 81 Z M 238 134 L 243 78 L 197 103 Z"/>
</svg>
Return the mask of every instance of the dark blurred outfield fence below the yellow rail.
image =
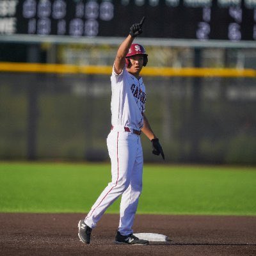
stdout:
<svg viewBox="0 0 256 256">
<path fill-rule="evenodd" d="M 108 161 L 109 76 L 0 73 L 0 81 L 0 159 Z M 166 162 L 256 163 L 255 79 L 144 82 Z M 145 161 L 161 162 L 141 138 Z"/>
</svg>

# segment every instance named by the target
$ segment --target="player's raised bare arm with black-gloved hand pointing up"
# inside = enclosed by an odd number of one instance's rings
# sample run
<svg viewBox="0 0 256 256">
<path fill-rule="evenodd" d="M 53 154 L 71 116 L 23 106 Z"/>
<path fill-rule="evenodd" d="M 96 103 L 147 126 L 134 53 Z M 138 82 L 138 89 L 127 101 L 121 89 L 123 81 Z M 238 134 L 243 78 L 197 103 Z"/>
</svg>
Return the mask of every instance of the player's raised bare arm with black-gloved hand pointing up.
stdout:
<svg viewBox="0 0 256 256">
<path fill-rule="evenodd" d="M 122 70 L 125 65 L 125 56 L 128 53 L 134 38 L 143 32 L 142 25 L 144 20 L 145 20 L 145 17 L 141 19 L 140 23 L 138 24 L 136 23 L 131 26 L 129 35 L 127 36 L 127 38 L 125 38 L 125 40 L 122 42 L 122 44 L 118 48 L 118 51 L 116 53 L 115 63 L 114 63 L 116 74 L 122 73 Z"/>
</svg>

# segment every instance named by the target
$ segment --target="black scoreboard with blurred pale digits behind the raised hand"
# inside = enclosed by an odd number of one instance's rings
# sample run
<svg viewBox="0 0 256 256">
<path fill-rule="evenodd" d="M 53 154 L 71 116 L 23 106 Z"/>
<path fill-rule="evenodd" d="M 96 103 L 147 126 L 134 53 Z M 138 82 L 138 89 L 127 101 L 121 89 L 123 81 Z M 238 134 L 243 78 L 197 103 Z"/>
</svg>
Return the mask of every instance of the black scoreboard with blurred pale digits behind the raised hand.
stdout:
<svg viewBox="0 0 256 256">
<path fill-rule="evenodd" d="M 256 40 L 256 0 L 0 0 L 0 36 L 127 36 Z"/>
</svg>

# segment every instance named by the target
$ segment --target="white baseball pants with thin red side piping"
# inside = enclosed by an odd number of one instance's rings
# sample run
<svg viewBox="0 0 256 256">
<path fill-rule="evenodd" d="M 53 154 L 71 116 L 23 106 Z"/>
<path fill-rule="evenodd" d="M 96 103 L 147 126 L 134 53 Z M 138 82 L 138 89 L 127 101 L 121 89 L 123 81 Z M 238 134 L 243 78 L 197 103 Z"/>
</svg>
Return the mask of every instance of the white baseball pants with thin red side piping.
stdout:
<svg viewBox="0 0 256 256">
<path fill-rule="evenodd" d="M 133 233 L 132 225 L 142 189 L 143 152 L 140 136 L 125 132 L 124 129 L 111 131 L 107 145 L 112 180 L 102 191 L 84 222 L 94 228 L 106 209 L 122 195 L 118 231 L 126 236 Z"/>
</svg>

